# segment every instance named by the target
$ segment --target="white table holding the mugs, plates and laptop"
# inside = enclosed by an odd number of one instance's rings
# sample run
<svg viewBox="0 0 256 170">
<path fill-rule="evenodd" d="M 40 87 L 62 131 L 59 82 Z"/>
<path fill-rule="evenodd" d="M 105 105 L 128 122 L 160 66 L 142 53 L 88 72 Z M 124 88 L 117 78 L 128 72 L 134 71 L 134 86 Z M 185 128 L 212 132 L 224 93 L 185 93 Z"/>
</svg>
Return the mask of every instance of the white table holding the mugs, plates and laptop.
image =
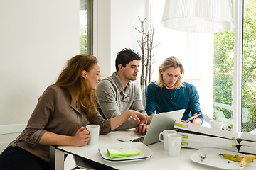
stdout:
<svg viewBox="0 0 256 170">
<path fill-rule="evenodd" d="M 197 151 L 197 149 L 181 148 L 181 154 L 179 157 L 169 157 L 168 152 L 164 151 L 163 142 L 157 142 L 148 147 L 153 152 L 153 156 L 149 159 L 130 161 L 130 162 L 110 162 L 102 159 L 98 147 L 106 143 L 119 142 L 118 137 L 124 135 L 132 135 L 133 130 L 120 130 L 110 132 L 107 135 L 100 135 L 100 141 L 98 145 L 85 145 L 82 147 L 51 147 L 50 148 L 50 164 L 52 169 L 64 169 L 64 154 L 73 154 L 85 158 L 89 162 L 94 164 L 110 166 L 114 169 L 212 169 L 217 170 L 215 167 L 205 166 L 192 162 L 189 159 L 190 155 Z M 107 169 L 102 168 L 102 169 Z M 256 162 L 249 163 L 244 168 L 245 170 L 256 169 Z M 218 169 L 219 170 L 219 169 Z"/>
</svg>

